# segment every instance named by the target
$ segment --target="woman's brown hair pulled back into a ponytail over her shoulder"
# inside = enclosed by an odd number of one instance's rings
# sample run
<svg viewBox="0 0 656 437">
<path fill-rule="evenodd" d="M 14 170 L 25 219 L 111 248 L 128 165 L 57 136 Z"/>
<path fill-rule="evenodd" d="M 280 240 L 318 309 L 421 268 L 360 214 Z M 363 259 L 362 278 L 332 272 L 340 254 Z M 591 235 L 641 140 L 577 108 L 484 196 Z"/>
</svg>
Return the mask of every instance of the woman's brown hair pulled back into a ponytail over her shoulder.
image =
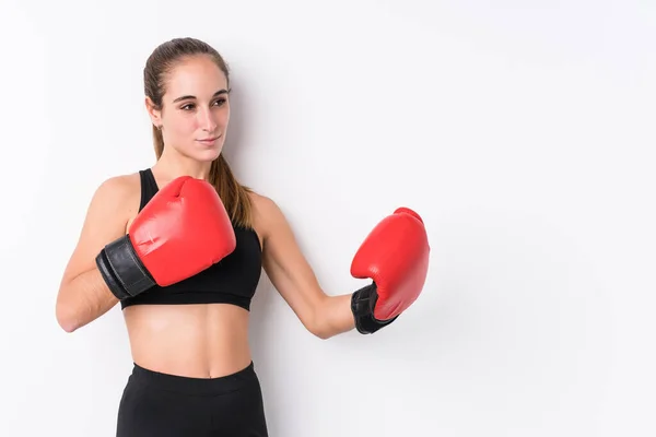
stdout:
<svg viewBox="0 0 656 437">
<path fill-rule="evenodd" d="M 195 38 L 175 38 L 160 45 L 151 54 L 143 69 L 143 88 L 157 109 L 162 109 L 162 96 L 165 93 L 165 75 L 184 57 L 209 56 L 225 74 L 230 90 L 230 73 L 225 60 L 209 44 Z M 153 143 L 157 160 L 164 150 L 162 132 L 153 126 Z M 212 162 L 210 184 L 214 186 L 233 224 L 251 227 L 251 189 L 241 185 L 233 175 L 223 153 Z"/>
</svg>

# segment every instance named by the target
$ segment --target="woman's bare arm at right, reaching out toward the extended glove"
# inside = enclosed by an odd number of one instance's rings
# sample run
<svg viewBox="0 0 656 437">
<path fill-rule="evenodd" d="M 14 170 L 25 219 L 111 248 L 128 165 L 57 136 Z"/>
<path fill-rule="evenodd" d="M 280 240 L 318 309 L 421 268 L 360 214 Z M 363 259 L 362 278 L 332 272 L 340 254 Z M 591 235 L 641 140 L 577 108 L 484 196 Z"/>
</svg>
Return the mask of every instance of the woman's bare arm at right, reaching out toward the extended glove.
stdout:
<svg viewBox="0 0 656 437">
<path fill-rule="evenodd" d="M 301 252 L 282 211 L 265 197 L 258 197 L 256 203 L 262 221 L 265 271 L 303 326 L 320 339 L 352 330 L 352 293 L 328 296 Z"/>
</svg>

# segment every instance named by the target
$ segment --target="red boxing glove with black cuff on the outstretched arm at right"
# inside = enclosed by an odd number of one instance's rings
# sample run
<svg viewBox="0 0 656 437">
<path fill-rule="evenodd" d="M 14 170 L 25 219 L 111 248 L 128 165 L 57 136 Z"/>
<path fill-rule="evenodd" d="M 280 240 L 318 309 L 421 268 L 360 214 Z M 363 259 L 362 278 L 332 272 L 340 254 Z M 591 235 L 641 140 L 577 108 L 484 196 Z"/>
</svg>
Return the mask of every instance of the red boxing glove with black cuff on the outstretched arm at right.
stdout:
<svg viewBox="0 0 656 437">
<path fill-rule="evenodd" d="M 367 235 L 351 263 L 353 277 L 373 280 L 351 298 L 359 332 L 373 333 L 391 323 L 417 300 L 430 250 L 422 218 L 408 208 L 397 209 Z"/>
</svg>

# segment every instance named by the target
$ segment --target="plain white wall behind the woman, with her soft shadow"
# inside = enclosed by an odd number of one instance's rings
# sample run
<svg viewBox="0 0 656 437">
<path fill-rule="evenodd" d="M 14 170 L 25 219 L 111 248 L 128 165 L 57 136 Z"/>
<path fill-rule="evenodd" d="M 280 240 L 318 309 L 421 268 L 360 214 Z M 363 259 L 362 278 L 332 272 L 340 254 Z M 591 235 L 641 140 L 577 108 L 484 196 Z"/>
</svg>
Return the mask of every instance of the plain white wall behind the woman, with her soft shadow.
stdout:
<svg viewBox="0 0 656 437">
<path fill-rule="evenodd" d="M 262 279 L 271 436 L 656 434 L 654 3 L 1 4 L 1 436 L 115 433 L 120 310 L 67 334 L 55 298 L 97 185 L 153 163 L 141 71 L 175 36 L 230 61 L 225 153 L 327 293 L 396 206 L 429 229 L 373 336 L 313 338 Z"/>
</svg>

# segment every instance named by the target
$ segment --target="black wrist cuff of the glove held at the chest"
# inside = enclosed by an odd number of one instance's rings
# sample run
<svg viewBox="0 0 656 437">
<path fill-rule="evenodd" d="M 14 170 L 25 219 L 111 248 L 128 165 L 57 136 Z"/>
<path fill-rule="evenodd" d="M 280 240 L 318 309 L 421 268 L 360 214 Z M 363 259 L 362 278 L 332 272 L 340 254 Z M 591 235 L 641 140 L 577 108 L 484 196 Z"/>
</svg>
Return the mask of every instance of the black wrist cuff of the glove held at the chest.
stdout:
<svg viewBox="0 0 656 437">
<path fill-rule="evenodd" d="M 128 235 L 105 246 L 96 257 L 96 265 L 109 291 L 119 300 L 134 297 L 156 284 L 137 256 Z"/>
</svg>

